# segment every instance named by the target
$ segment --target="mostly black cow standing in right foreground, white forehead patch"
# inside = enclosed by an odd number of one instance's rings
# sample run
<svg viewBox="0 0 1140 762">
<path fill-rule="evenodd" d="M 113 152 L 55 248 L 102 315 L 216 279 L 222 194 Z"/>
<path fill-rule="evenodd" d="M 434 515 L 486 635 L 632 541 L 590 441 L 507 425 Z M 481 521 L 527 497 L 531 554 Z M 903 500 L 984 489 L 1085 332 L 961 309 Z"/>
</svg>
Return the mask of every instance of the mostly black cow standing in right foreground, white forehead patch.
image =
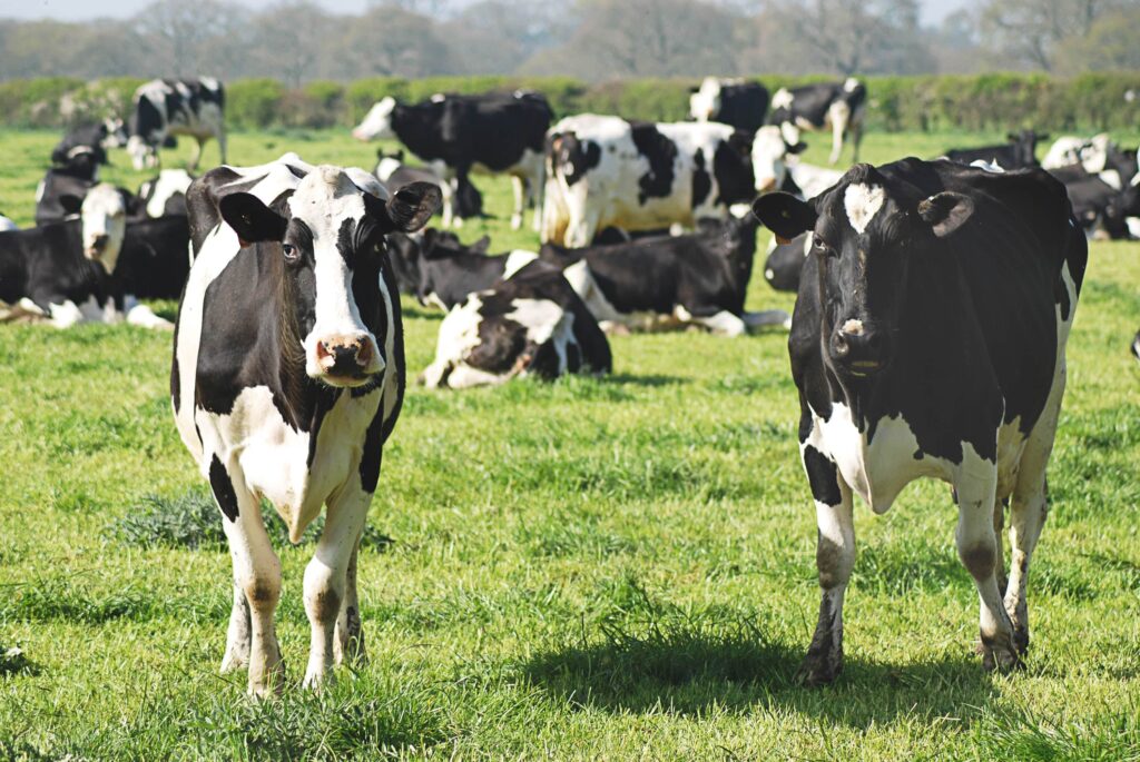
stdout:
<svg viewBox="0 0 1140 762">
<path fill-rule="evenodd" d="M 814 237 L 788 342 L 823 591 L 806 681 L 830 682 L 842 667 L 852 495 L 881 514 L 922 476 L 954 487 L 983 662 L 1017 666 L 1088 259 L 1065 189 L 1042 170 L 909 158 L 856 165 L 809 203 L 762 196 L 755 211 L 782 238 Z M 995 527 L 1009 498 L 1007 585 Z"/>
</svg>

